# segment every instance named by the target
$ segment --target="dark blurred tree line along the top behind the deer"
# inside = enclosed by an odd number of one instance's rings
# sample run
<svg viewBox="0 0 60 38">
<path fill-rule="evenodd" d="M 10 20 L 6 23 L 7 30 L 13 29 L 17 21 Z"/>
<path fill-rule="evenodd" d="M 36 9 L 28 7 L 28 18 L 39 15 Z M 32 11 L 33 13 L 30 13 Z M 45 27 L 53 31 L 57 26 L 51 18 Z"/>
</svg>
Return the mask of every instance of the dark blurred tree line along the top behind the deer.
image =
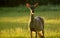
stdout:
<svg viewBox="0 0 60 38">
<path fill-rule="evenodd" d="M 60 4 L 60 0 L 0 0 L 0 6 L 18 6 L 25 5 L 26 3 L 35 4 L 36 2 L 39 5 Z"/>
</svg>

